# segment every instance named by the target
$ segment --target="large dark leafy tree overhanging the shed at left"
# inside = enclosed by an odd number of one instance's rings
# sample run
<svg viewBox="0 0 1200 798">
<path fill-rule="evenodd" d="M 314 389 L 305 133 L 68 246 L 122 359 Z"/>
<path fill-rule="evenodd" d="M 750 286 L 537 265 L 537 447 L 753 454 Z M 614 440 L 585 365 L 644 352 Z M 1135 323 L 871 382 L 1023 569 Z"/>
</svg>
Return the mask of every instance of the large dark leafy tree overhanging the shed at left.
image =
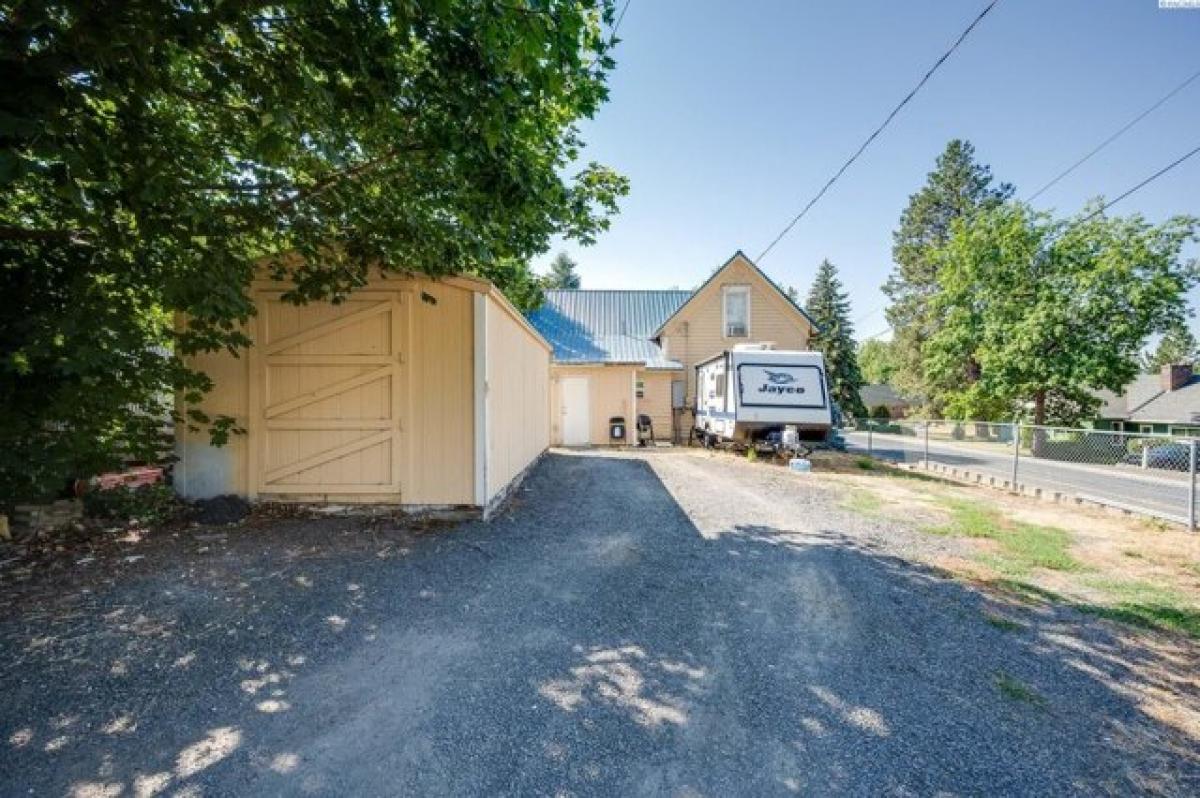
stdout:
<svg viewBox="0 0 1200 798">
<path fill-rule="evenodd" d="M 0 8 L 0 504 L 161 445 L 184 355 L 378 269 L 526 281 L 628 184 L 575 166 L 612 0 Z M 502 286 L 504 287 L 504 286 Z M 176 329 L 175 319 L 186 318 Z M 232 419 L 188 410 L 217 442 Z"/>
</svg>

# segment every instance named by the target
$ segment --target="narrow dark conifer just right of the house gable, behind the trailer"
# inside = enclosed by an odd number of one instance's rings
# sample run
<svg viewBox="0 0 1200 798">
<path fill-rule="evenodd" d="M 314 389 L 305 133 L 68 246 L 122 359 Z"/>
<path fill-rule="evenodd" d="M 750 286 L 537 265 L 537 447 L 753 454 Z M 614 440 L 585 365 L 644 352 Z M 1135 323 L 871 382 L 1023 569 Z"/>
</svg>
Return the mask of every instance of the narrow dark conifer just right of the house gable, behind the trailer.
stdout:
<svg viewBox="0 0 1200 798">
<path fill-rule="evenodd" d="M 822 260 L 817 266 L 805 310 L 816 323 L 811 346 L 824 355 L 829 392 L 846 415 L 863 418 L 866 408 L 859 391 L 863 376 L 854 352 L 854 325 L 850 320 L 850 299 L 841 288 L 838 268 Z"/>
</svg>

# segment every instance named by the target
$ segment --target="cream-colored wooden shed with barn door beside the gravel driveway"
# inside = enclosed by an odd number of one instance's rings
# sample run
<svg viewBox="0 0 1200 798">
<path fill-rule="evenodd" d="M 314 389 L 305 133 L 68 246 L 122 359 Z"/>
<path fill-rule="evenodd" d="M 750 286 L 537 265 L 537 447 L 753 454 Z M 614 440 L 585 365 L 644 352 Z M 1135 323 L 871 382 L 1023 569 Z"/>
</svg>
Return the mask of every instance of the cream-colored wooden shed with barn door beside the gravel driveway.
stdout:
<svg viewBox="0 0 1200 798">
<path fill-rule="evenodd" d="M 252 287 L 254 341 L 193 365 L 202 409 L 246 433 L 181 428 L 175 485 L 203 498 L 493 506 L 550 444 L 550 344 L 487 282 L 373 280 L 340 304 Z"/>
</svg>

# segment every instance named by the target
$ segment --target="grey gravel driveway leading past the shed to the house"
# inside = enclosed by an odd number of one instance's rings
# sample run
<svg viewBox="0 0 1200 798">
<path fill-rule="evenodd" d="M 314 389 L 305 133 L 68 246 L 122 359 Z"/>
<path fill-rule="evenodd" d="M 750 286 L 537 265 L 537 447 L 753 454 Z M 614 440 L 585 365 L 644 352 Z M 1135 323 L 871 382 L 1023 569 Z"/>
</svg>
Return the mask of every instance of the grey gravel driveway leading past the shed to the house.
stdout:
<svg viewBox="0 0 1200 798">
<path fill-rule="evenodd" d="M 486 526 L 8 565 L 0 794 L 1195 794 L 1126 686 L 1184 677 L 989 623 L 913 564 L 953 545 L 727 456 L 551 454 Z"/>
</svg>

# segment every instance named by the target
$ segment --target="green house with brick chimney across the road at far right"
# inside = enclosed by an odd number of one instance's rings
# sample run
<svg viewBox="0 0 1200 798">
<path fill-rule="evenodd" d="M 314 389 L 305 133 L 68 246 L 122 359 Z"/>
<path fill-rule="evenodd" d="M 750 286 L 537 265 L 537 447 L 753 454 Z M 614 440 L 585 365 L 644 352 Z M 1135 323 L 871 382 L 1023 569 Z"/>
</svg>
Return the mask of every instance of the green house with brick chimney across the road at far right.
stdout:
<svg viewBox="0 0 1200 798">
<path fill-rule="evenodd" d="M 1122 394 L 1100 391 L 1097 430 L 1200 438 L 1200 376 L 1190 364 L 1139 376 Z"/>
</svg>

